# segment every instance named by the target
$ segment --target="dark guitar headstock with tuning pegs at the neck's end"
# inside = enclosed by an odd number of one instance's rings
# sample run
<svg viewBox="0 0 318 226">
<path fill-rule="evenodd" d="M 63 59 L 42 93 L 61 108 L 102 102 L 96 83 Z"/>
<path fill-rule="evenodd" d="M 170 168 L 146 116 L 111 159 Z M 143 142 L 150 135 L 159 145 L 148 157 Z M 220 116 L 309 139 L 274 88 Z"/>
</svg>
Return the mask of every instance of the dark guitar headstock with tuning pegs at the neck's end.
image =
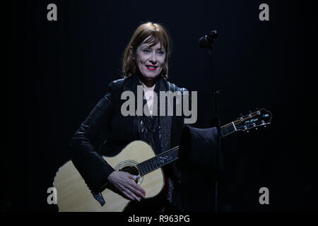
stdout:
<svg viewBox="0 0 318 226">
<path fill-rule="evenodd" d="M 271 117 L 271 112 L 263 108 L 242 116 L 233 123 L 237 130 L 249 131 L 249 129 L 257 129 L 259 126 L 266 127 L 267 124 L 271 124 Z"/>
</svg>

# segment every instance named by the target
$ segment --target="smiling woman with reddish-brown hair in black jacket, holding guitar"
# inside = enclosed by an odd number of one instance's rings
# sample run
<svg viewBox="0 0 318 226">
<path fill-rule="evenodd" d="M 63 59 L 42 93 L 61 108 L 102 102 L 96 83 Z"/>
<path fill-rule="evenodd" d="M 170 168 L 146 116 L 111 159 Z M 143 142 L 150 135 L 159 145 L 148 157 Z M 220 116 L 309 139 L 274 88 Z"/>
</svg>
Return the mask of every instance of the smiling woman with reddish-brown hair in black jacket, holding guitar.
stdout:
<svg viewBox="0 0 318 226">
<path fill-rule="evenodd" d="M 158 116 L 153 106 L 153 93 L 171 90 L 184 92 L 184 88 L 167 82 L 170 57 L 170 37 L 167 30 L 157 23 L 143 23 L 134 32 L 124 51 L 123 79 L 108 86 L 105 97 L 98 102 L 71 139 L 73 164 L 93 194 L 112 186 L 128 198 L 137 210 L 180 210 L 178 198 L 179 170 L 177 162 L 164 167 L 165 191 L 151 200 L 144 200 L 145 191 L 136 184 L 138 179 L 127 172 L 115 171 L 101 155 L 113 155 L 131 141 L 146 141 L 156 154 L 173 148 L 179 143 L 183 117 Z M 150 116 L 124 117 L 121 112 L 124 91 L 137 93 L 142 85 L 144 104 Z M 159 95 L 158 95 L 159 97 Z M 158 105 L 160 107 L 160 105 Z M 167 107 L 167 105 L 166 105 Z M 158 109 L 159 112 L 159 109 Z M 142 203 L 142 204 L 141 204 Z M 131 208 L 133 209 L 133 208 Z M 136 210 L 136 209 L 134 209 Z"/>
</svg>

